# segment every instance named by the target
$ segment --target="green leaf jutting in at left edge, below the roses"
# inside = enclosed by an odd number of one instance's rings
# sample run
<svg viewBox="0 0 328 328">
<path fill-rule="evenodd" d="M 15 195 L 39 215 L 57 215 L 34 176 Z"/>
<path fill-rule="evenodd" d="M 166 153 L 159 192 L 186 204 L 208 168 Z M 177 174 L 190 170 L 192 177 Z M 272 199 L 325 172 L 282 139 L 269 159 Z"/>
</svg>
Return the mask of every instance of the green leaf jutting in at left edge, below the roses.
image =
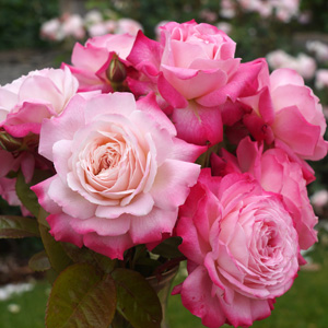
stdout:
<svg viewBox="0 0 328 328">
<path fill-rule="evenodd" d="M 0 215 L 0 238 L 39 236 L 36 220 L 14 215 Z"/>
</svg>

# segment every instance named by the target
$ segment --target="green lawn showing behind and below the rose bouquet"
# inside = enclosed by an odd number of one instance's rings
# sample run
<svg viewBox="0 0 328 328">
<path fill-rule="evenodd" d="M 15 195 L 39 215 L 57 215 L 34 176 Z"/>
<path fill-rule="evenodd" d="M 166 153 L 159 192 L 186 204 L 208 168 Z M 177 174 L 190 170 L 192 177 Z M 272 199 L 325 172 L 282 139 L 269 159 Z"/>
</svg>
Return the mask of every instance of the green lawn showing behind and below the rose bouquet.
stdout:
<svg viewBox="0 0 328 328">
<path fill-rule="evenodd" d="M 256 321 L 254 328 L 327 328 L 328 327 L 328 232 L 320 233 L 320 243 L 308 254 L 313 268 L 302 269 L 291 290 L 277 298 L 272 315 Z M 177 277 L 175 284 L 181 281 Z M 1 328 L 44 328 L 44 316 L 49 284 L 37 282 L 33 291 L 0 301 Z M 11 313 L 11 304 L 20 312 Z M 194 317 L 180 302 L 179 295 L 169 297 L 168 323 L 171 328 L 202 328 L 201 320 Z M 230 326 L 224 326 L 225 328 Z M 96 327 L 95 327 L 96 328 Z"/>
</svg>

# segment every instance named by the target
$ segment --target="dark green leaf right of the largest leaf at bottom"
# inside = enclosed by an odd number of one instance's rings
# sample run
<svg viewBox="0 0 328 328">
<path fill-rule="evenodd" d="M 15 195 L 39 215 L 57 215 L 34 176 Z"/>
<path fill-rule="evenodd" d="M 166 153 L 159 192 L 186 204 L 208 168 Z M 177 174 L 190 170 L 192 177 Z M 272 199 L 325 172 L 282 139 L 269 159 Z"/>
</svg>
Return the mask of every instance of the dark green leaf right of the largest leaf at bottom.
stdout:
<svg viewBox="0 0 328 328">
<path fill-rule="evenodd" d="M 160 328 L 162 307 L 157 294 L 137 271 L 112 272 L 117 291 L 117 309 L 134 328 Z"/>
</svg>

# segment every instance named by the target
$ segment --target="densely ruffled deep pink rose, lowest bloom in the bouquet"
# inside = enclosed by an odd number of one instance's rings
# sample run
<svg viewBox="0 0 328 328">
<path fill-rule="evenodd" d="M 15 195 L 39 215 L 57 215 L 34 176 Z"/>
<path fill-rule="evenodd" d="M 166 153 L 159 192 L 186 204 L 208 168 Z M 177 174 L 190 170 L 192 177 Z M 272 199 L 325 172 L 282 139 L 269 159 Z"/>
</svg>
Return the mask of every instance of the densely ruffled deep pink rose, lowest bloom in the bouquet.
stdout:
<svg viewBox="0 0 328 328">
<path fill-rule="evenodd" d="M 207 327 L 268 317 L 297 274 L 292 218 L 247 174 L 212 177 L 206 168 L 181 207 L 177 234 L 189 276 L 173 293 Z"/>
</svg>

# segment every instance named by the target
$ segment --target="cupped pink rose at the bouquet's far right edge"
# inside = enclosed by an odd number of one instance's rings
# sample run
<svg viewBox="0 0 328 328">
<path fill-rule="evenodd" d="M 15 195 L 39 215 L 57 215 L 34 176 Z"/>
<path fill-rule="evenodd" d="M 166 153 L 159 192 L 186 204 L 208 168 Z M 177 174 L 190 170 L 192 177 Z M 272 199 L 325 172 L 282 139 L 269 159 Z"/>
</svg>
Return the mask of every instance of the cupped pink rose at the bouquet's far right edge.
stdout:
<svg viewBox="0 0 328 328">
<path fill-rule="evenodd" d="M 295 161 L 323 159 L 328 143 L 319 99 L 293 70 L 278 69 L 265 79 L 256 95 L 241 98 L 246 110 L 243 120 L 253 137 L 269 144 L 274 141 Z"/>
</svg>

